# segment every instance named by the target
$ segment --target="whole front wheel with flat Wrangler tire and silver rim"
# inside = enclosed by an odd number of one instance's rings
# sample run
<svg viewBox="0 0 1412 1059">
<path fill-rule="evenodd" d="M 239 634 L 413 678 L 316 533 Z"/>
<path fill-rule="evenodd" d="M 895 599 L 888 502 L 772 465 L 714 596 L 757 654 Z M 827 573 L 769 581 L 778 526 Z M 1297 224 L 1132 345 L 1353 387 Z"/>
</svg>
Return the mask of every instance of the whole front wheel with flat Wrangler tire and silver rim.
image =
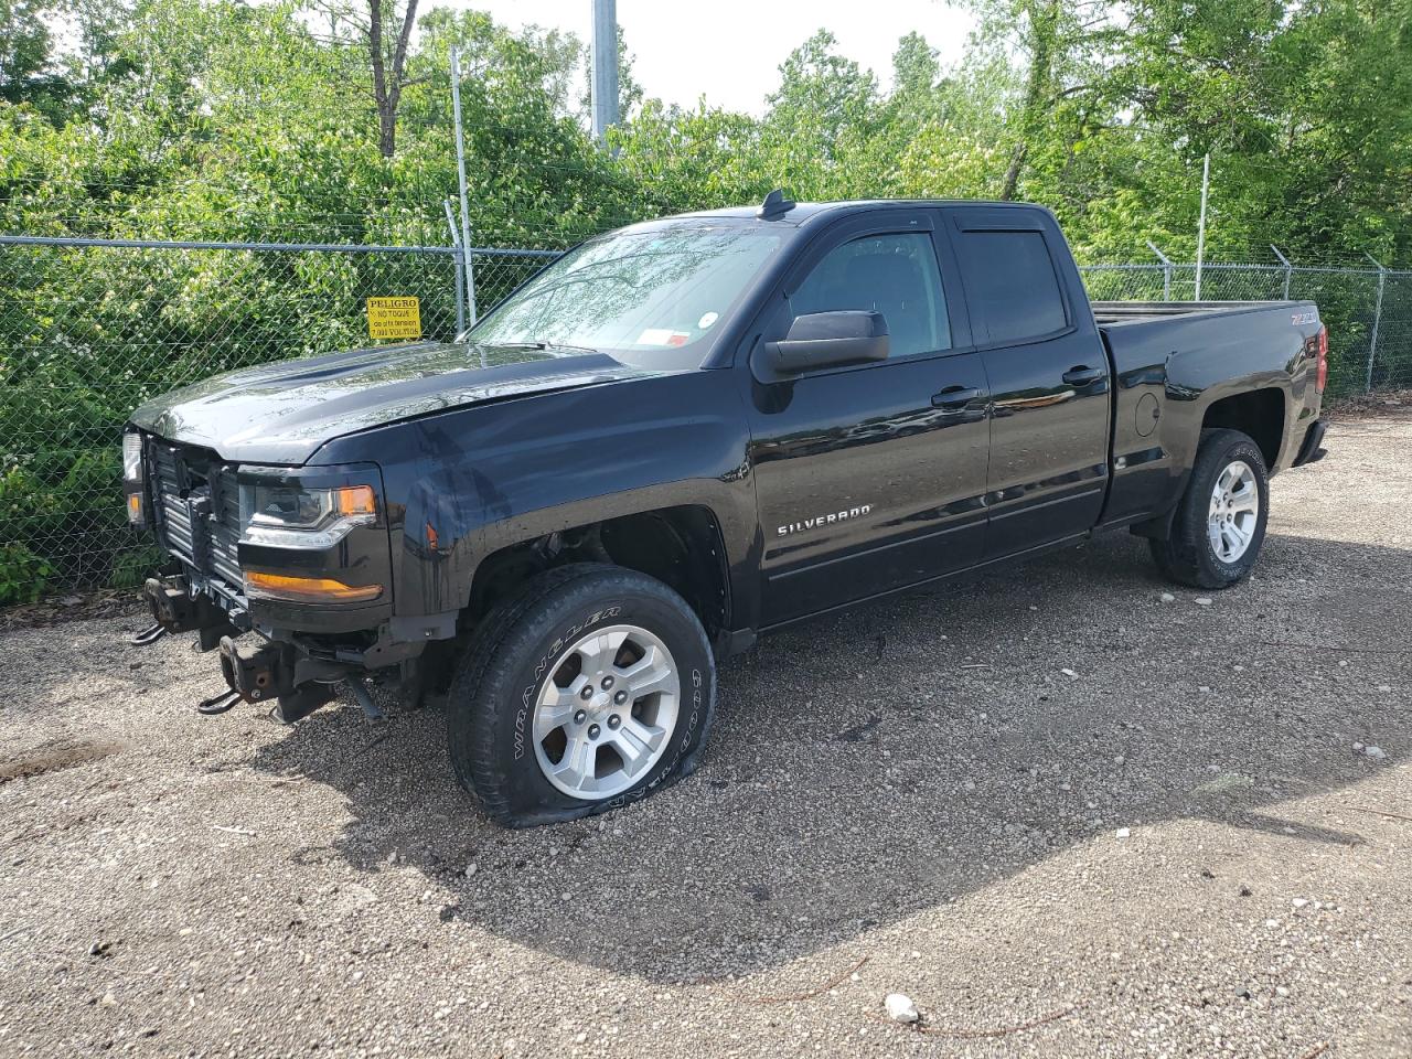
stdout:
<svg viewBox="0 0 1412 1059">
<path fill-rule="evenodd" d="M 575 565 L 481 623 L 446 705 L 450 760 L 511 827 L 603 812 L 686 775 L 714 705 L 696 614 L 635 570 Z"/>
</svg>

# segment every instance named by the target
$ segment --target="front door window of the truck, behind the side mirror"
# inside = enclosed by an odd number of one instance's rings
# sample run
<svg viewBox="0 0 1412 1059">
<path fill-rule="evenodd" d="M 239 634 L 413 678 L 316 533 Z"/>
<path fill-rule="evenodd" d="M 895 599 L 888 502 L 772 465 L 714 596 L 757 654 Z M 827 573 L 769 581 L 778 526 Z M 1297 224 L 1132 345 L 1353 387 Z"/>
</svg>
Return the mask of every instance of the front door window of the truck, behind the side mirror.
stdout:
<svg viewBox="0 0 1412 1059">
<path fill-rule="evenodd" d="M 952 347 L 932 237 L 925 233 L 864 236 L 834 247 L 789 297 L 795 316 L 836 309 L 881 312 L 888 359 Z"/>
</svg>

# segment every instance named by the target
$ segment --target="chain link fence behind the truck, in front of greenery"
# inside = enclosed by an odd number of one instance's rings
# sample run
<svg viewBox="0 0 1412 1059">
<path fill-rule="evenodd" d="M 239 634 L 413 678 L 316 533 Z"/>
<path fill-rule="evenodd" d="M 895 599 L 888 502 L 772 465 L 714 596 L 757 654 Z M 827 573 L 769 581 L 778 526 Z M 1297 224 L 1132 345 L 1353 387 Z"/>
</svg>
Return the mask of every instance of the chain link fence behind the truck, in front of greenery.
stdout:
<svg viewBox="0 0 1412 1059">
<path fill-rule="evenodd" d="M 123 422 L 219 371 L 378 345 L 370 298 L 415 298 L 449 339 L 556 256 L 455 247 L 0 237 L 0 603 L 137 585 L 155 555 L 127 527 Z M 1096 299 L 1192 299 L 1186 264 L 1083 267 Z M 1330 391 L 1412 385 L 1412 273 L 1207 264 L 1206 299 L 1309 298 Z M 407 302 L 398 302 L 405 305 Z M 376 311 L 374 311 L 376 316 Z M 405 313 L 400 318 L 405 325 Z"/>
</svg>

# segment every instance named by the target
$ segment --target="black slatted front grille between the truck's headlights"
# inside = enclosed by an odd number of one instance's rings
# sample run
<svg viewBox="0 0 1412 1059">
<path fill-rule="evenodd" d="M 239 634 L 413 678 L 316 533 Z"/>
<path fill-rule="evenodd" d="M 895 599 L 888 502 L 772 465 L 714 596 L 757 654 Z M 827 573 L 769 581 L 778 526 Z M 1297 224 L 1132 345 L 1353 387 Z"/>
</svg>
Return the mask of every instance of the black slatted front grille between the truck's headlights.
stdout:
<svg viewBox="0 0 1412 1059">
<path fill-rule="evenodd" d="M 244 585 L 240 541 L 240 487 L 234 467 L 202 449 L 151 439 L 148 470 L 157 535 L 201 578 L 230 592 Z"/>
</svg>

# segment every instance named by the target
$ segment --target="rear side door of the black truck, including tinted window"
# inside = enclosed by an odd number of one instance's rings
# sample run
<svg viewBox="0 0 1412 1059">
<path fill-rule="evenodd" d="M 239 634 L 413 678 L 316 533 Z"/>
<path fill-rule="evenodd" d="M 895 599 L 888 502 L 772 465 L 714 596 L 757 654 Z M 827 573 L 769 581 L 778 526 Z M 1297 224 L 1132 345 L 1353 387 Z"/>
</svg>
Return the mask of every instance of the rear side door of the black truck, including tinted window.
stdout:
<svg viewBox="0 0 1412 1059">
<path fill-rule="evenodd" d="M 983 559 L 991 559 L 1099 521 L 1108 479 L 1108 356 L 1048 212 L 946 213 L 990 380 Z"/>
</svg>

